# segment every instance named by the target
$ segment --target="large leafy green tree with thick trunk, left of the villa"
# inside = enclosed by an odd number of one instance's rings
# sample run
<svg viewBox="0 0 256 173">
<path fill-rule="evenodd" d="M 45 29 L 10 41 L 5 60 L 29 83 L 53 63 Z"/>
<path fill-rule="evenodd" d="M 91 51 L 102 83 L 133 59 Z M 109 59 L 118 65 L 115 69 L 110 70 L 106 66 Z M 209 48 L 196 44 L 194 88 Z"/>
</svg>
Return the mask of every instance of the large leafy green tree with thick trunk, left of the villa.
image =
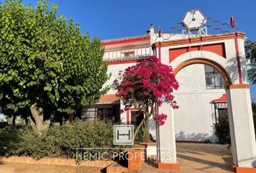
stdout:
<svg viewBox="0 0 256 173">
<path fill-rule="evenodd" d="M 80 26 L 57 7 L 7 0 L 0 4 L 0 107 L 30 112 L 38 131 L 56 112 L 72 114 L 95 102 L 108 79 L 98 38 L 90 40 Z M 59 113 L 58 113 L 59 115 Z"/>
</svg>

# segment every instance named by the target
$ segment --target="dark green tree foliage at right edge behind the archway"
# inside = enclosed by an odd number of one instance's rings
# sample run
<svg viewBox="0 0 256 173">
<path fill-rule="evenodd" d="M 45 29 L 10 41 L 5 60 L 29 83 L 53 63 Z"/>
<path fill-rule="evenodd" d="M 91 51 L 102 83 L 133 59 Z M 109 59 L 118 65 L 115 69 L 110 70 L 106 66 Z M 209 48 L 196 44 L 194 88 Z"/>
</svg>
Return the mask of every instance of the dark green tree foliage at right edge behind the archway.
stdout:
<svg viewBox="0 0 256 173">
<path fill-rule="evenodd" d="M 245 42 L 245 53 L 246 57 L 251 61 L 248 69 L 249 80 L 252 84 L 256 84 L 256 41 Z"/>
</svg>

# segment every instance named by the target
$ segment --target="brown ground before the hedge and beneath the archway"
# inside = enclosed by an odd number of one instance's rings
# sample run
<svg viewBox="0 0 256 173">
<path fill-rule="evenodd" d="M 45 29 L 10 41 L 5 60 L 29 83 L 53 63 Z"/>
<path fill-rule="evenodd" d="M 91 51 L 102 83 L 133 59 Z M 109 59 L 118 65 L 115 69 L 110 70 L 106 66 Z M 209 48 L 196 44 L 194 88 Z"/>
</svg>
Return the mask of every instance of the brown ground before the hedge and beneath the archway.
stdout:
<svg viewBox="0 0 256 173">
<path fill-rule="evenodd" d="M 177 143 L 177 171 L 159 170 L 150 162 L 142 165 L 141 173 L 223 173 L 231 172 L 231 152 L 225 145 Z M 0 163 L 0 173 L 87 173 L 101 172 L 95 167 L 71 167 L 43 164 Z"/>
</svg>

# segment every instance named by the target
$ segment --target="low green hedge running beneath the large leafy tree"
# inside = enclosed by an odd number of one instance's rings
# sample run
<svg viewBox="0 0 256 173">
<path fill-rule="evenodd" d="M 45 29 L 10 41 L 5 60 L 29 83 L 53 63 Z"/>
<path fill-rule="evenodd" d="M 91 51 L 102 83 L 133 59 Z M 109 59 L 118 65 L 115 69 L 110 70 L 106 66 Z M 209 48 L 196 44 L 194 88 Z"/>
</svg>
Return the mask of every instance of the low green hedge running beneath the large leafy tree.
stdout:
<svg viewBox="0 0 256 173">
<path fill-rule="evenodd" d="M 73 123 L 53 125 L 42 134 L 38 134 L 28 125 L 0 129 L 0 154 L 5 156 L 33 156 L 35 159 L 45 156 L 74 158 L 77 151 L 103 151 L 96 148 L 114 148 L 111 123 L 75 120 Z"/>
</svg>

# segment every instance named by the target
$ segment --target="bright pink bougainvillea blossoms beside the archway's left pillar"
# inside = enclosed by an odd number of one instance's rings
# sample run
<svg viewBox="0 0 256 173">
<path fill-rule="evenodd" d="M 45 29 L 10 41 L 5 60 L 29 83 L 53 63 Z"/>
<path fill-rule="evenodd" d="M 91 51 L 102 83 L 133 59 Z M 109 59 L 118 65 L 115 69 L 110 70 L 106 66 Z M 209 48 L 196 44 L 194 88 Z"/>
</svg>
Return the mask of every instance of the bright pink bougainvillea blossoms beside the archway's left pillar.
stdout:
<svg viewBox="0 0 256 173">
<path fill-rule="evenodd" d="M 136 107 L 146 115 L 153 115 L 160 125 L 164 124 L 167 115 L 155 115 L 155 104 L 161 106 L 167 102 L 174 109 L 178 108 L 172 94 L 173 89 L 179 88 L 173 69 L 155 56 L 120 71 L 114 84 L 117 95 L 124 103 L 124 110 Z"/>
</svg>

